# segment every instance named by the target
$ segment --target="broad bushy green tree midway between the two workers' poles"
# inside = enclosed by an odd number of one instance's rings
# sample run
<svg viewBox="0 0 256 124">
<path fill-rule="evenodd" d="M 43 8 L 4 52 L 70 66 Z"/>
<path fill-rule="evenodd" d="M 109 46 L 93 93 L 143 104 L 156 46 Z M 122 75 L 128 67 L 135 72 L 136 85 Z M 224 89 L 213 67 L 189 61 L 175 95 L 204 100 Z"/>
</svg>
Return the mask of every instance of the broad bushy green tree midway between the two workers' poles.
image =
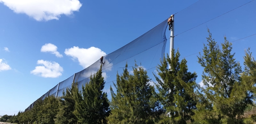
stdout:
<svg viewBox="0 0 256 124">
<path fill-rule="evenodd" d="M 110 87 L 112 100 L 111 114 L 108 117 L 111 124 L 153 124 L 163 113 L 150 85 L 147 71 L 135 63 L 133 75 L 130 75 L 126 63 L 123 74 L 116 75 L 116 93 Z"/>
</svg>

